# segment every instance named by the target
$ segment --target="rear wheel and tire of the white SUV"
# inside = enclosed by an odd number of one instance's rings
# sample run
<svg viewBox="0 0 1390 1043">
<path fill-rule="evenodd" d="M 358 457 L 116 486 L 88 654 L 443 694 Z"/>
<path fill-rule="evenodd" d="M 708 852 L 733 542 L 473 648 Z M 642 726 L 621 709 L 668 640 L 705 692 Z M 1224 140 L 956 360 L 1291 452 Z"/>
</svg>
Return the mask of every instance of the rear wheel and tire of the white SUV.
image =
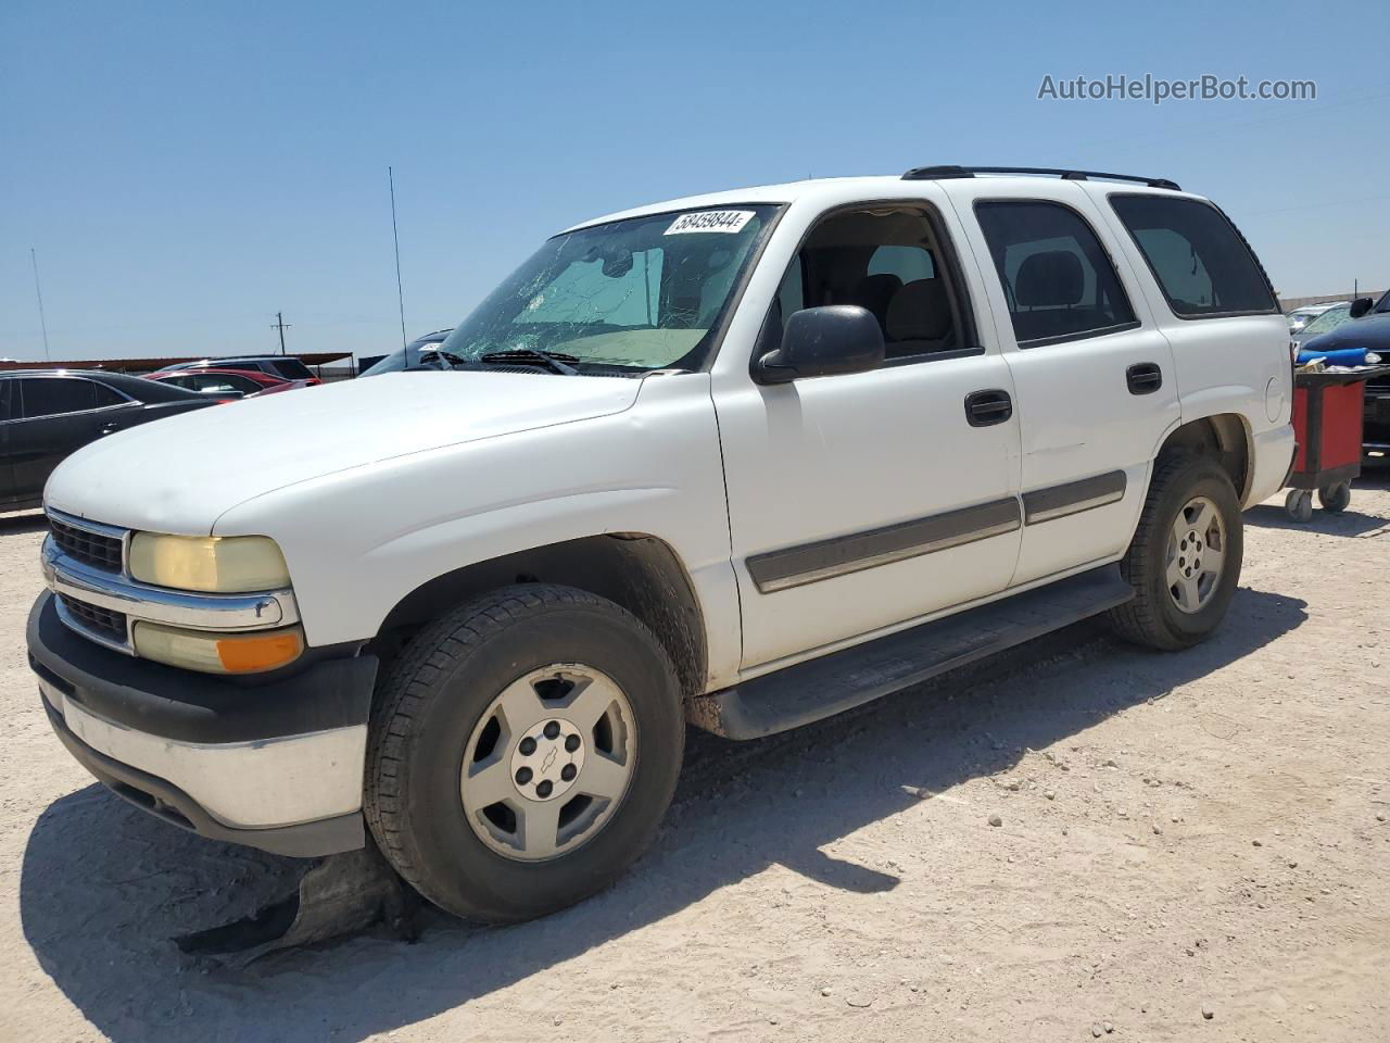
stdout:
<svg viewBox="0 0 1390 1043">
<path fill-rule="evenodd" d="M 1134 598 L 1109 622 L 1136 644 L 1177 651 L 1205 641 L 1236 594 L 1244 555 L 1240 502 L 1211 458 L 1161 460 L 1120 574 Z"/>
</svg>

